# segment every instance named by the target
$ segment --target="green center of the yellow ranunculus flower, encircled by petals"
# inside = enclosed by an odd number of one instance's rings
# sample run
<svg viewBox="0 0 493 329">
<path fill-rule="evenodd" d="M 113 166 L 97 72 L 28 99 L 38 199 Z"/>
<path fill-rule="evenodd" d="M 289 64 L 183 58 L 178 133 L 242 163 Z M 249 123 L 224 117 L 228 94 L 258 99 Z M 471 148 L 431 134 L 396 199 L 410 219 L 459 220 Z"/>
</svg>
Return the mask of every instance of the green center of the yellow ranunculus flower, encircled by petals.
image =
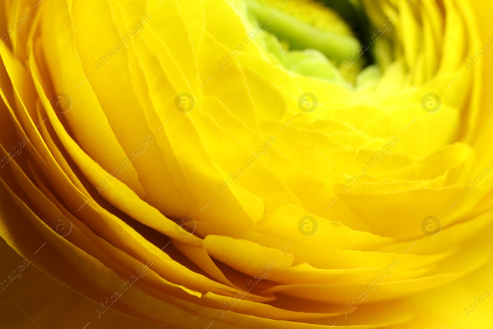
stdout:
<svg viewBox="0 0 493 329">
<path fill-rule="evenodd" d="M 313 0 L 246 2 L 251 20 L 275 14 L 261 43 L 288 70 L 349 86 L 370 62 L 358 40 L 365 36 L 367 19 L 354 1 L 339 1 L 336 9 Z"/>
</svg>

